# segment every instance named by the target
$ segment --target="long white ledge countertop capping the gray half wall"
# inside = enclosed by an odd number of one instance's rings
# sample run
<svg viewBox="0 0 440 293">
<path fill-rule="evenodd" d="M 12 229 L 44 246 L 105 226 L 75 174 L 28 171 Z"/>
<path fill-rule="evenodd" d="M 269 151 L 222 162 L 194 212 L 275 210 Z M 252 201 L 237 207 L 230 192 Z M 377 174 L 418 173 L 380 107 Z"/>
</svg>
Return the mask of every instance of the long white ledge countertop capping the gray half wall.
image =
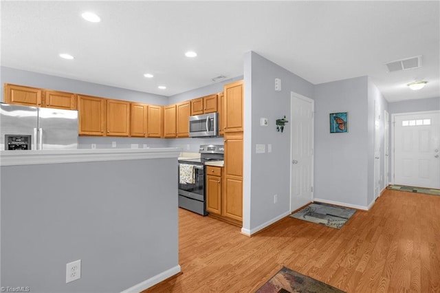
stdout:
<svg viewBox="0 0 440 293">
<path fill-rule="evenodd" d="M 0 151 L 0 166 L 176 158 L 179 148 Z"/>
</svg>

